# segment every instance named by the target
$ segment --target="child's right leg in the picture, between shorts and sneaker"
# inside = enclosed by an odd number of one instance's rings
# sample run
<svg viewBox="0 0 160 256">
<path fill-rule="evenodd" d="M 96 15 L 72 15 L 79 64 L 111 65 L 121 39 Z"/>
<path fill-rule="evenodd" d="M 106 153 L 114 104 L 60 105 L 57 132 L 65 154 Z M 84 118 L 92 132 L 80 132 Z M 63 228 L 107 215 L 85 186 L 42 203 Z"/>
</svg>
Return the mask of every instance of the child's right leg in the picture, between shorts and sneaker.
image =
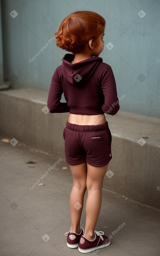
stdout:
<svg viewBox="0 0 160 256">
<path fill-rule="evenodd" d="M 86 187 L 88 195 L 86 200 L 86 223 L 84 236 L 89 240 L 93 240 L 95 237 L 94 230 L 101 208 L 101 191 L 107 167 L 108 164 L 102 167 L 95 167 L 87 164 Z"/>
</svg>

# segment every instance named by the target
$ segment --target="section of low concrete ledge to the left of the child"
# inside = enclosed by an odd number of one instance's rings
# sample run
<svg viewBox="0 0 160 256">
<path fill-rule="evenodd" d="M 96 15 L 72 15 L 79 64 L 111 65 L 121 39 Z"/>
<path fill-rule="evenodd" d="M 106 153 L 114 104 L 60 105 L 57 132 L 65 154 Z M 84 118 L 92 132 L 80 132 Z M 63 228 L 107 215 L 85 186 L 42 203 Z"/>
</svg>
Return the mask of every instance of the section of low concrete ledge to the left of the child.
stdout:
<svg viewBox="0 0 160 256">
<path fill-rule="evenodd" d="M 63 129 L 68 116 L 45 114 L 48 92 L 13 89 L 0 92 L 1 133 L 50 154 L 64 155 Z"/>
</svg>

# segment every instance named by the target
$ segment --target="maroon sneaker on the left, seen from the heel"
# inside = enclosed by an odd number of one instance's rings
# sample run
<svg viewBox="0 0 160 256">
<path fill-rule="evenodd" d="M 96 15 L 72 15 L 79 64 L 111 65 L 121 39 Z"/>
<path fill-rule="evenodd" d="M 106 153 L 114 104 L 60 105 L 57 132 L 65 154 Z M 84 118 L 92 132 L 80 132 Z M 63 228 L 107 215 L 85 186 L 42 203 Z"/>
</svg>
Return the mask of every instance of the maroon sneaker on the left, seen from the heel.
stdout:
<svg viewBox="0 0 160 256">
<path fill-rule="evenodd" d="M 81 236 L 84 234 L 84 229 L 82 227 L 81 228 L 81 233 L 77 234 L 75 232 L 67 232 L 65 235 L 67 235 L 67 246 L 70 248 L 77 248 L 78 247 L 78 243 L 79 240 L 81 238 Z"/>
</svg>

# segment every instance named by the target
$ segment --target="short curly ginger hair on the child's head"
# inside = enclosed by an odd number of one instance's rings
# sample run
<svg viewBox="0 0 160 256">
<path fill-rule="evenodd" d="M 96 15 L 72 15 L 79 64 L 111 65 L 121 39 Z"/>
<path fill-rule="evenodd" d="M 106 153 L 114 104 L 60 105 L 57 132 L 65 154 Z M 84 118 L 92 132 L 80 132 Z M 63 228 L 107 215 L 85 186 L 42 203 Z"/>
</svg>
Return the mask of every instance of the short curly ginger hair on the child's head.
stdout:
<svg viewBox="0 0 160 256">
<path fill-rule="evenodd" d="M 97 40 L 105 28 L 105 19 L 98 13 L 77 11 L 69 14 L 60 24 L 54 35 L 56 45 L 68 52 L 77 53 L 83 50 L 90 39 Z"/>
</svg>

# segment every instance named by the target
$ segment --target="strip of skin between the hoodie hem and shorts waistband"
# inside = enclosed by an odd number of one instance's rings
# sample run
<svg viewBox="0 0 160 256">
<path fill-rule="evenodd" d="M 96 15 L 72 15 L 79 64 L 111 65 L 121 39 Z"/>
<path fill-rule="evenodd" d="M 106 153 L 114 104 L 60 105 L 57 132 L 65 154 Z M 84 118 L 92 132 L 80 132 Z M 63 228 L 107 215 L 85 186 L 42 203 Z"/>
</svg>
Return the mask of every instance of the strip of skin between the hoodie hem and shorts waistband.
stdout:
<svg viewBox="0 0 160 256">
<path fill-rule="evenodd" d="M 101 125 L 106 123 L 104 114 L 99 115 L 80 115 L 69 113 L 68 122 L 75 125 Z"/>
</svg>

